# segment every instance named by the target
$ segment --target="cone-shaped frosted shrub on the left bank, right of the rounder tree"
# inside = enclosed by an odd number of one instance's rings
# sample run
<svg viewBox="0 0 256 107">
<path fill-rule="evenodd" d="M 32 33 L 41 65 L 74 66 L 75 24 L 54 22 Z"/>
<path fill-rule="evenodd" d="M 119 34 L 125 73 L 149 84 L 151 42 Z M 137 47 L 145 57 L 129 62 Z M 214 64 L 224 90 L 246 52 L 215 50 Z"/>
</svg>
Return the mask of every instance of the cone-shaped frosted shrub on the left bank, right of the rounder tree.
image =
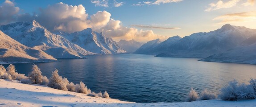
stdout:
<svg viewBox="0 0 256 107">
<path fill-rule="evenodd" d="M 48 86 L 55 88 L 55 89 L 67 91 L 65 83 L 63 83 L 62 77 L 59 76 L 57 69 L 54 70 L 54 72 L 52 73 L 52 77 L 50 78 L 50 82 L 49 82 Z"/>
</svg>

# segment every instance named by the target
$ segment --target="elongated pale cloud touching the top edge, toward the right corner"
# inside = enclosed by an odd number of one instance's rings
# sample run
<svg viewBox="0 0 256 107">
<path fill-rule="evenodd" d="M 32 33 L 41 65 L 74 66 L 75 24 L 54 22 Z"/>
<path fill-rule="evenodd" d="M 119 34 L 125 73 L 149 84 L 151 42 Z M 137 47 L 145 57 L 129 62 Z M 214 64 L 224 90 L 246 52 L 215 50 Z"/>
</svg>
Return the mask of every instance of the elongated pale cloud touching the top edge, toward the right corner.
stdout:
<svg viewBox="0 0 256 107">
<path fill-rule="evenodd" d="M 222 0 L 219 0 L 217 3 L 211 3 L 209 4 L 209 8 L 206 8 L 205 12 L 211 12 L 213 10 L 218 10 L 221 8 L 231 8 L 234 7 L 240 0 L 230 0 L 226 3 L 224 3 Z"/>
</svg>

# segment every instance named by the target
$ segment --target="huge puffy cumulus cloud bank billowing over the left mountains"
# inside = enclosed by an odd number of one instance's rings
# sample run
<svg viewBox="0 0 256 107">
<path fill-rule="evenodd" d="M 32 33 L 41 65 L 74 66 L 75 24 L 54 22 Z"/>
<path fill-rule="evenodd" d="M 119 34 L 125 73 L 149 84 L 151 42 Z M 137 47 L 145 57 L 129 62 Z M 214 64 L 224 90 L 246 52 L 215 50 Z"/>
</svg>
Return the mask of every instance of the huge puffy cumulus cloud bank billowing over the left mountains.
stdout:
<svg viewBox="0 0 256 107">
<path fill-rule="evenodd" d="M 6 8 L 7 7 L 7 8 Z M 122 25 L 121 21 L 111 18 L 111 13 L 107 11 L 99 11 L 93 15 L 86 13 L 83 5 L 68 5 L 62 2 L 48 5 L 46 8 L 40 8 L 39 13 L 30 15 L 29 13 L 18 14 L 19 8 L 15 7 L 10 1 L 1 4 L 0 12 L 4 13 L 11 10 L 13 21 L 38 21 L 42 26 L 50 31 L 60 30 L 68 33 L 82 31 L 83 29 L 92 28 L 97 32 L 103 32 L 107 37 L 114 40 L 120 39 L 146 42 L 153 39 L 165 40 L 168 37 L 154 34 L 152 30 L 138 30 Z M 4 13 L 7 14 L 7 13 Z M 6 16 L 6 15 L 5 15 Z M 5 17 L 0 15 L 4 20 Z M 1 22 L 3 20 L 0 20 Z"/>
</svg>

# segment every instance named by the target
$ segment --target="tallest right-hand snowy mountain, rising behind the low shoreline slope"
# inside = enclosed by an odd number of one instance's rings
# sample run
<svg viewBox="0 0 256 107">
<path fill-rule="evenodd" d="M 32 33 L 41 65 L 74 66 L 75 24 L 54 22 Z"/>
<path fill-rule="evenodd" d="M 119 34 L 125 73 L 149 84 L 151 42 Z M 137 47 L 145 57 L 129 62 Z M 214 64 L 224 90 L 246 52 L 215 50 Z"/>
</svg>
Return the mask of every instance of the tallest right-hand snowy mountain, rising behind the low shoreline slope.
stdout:
<svg viewBox="0 0 256 107">
<path fill-rule="evenodd" d="M 166 47 L 167 51 L 158 54 L 157 57 L 206 58 L 239 46 L 255 33 L 253 29 L 226 24 L 221 29 L 209 33 L 194 33 L 183 37 Z"/>
</svg>

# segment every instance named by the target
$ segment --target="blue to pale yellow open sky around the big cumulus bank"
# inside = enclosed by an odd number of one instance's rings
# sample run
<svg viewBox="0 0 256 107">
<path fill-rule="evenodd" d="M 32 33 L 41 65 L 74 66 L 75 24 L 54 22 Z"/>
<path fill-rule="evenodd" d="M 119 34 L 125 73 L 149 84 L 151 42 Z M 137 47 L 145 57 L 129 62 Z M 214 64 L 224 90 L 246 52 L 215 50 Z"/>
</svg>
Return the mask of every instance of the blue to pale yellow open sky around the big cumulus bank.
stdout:
<svg viewBox="0 0 256 107">
<path fill-rule="evenodd" d="M 5 0 L 0 2 L 3 4 Z M 98 11 L 106 11 L 111 14 L 110 18 L 113 18 L 113 21 L 120 21 L 121 26 L 135 29 L 119 29 L 115 33 L 109 33 L 105 30 L 107 28 L 103 29 L 105 25 L 100 26 L 102 28 L 94 28 L 92 25 L 87 27 L 106 32 L 107 36 L 116 41 L 135 39 L 145 42 L 156 38 L 165 40 L 176 35 L 184 37 L 192 33 L 209 32 L 226 23 L 256 29 L 255 0 L 14 0 L 11 2 L 15 7 L 20 8 L 17 14 L 41 14 L 40 8 L 46 10 L 45 8 L 54 7 L 54 4 L 59 2 L 69 6 L 82 4 L 88 14 L 88 20 Z M 131 30 L 133 32 L 128 35 L 128 31 Z M 124 33 L 117 33 L 122 31 Z M 146 36 L 147 38 L 143 38 Z"/>
</svg>

